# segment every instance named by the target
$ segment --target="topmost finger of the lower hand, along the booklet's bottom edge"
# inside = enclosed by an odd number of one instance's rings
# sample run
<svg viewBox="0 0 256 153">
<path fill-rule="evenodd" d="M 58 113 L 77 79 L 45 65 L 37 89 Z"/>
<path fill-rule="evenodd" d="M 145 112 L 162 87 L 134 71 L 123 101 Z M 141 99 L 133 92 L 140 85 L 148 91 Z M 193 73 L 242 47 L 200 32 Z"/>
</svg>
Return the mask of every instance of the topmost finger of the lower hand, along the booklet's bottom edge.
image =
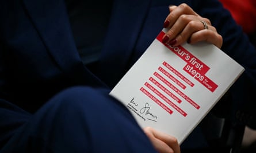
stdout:
<svg viewBox="0 0 256 153">
<path fill-rule="evenodd" d="M 165 142 L 168 146 L 170 146 L 170 148 L 172 148 L 172 150 L 175 153 L 180 152 L 178 140 L 174 136 L 171 136 L 171 135 L 168 135 L 168 134 L 165 134 L 163 132 L 156 131 L 156 130 L 153 131 L 153 134 L 154 134 L 156 139 L 159 139 L 162 142 Z"/>
</svg>

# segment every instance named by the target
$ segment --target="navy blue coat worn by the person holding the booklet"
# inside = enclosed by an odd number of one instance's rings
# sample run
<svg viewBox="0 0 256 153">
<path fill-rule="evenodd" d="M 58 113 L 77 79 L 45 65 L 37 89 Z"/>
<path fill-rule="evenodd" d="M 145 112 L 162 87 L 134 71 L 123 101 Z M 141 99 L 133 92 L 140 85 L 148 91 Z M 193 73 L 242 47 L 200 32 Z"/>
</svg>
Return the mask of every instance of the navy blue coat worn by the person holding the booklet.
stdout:
<svg viewBox="0 0 256 153">
<path fill-rule="evenodd" d="M 182 2 L 211 20 L 223 36 L 221 50 L 246 69 L 230 94 L 239 120 L 253 126 L 255 108 L 245 103 L 253 104 L 256 93 L 256 50 L 218 1 L 114 1 L 100 65 L 92 73 L 79 57 L 63 0 L 9 0 L 0 2 L 0 146 L 26 122 L 16 113 L 33 114 L 75 85 L 114 87 L 162 30 L 168 6 Z"/>
</svg>

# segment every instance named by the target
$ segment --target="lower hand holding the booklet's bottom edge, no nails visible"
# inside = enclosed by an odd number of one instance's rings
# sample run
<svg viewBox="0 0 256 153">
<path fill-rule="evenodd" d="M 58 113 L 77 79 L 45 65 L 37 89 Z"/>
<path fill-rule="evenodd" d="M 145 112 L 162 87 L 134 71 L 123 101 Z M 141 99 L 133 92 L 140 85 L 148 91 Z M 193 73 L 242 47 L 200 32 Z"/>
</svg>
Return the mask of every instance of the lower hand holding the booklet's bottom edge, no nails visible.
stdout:
<svg viewBox="0 0 256 153">
<path fill-rule="evenodd" d="M 178 141 L 173 136 L 156 131 L 151 127 L 146 127 L 143 130 L 159 153 L 181 152 Z"/>
</svg>

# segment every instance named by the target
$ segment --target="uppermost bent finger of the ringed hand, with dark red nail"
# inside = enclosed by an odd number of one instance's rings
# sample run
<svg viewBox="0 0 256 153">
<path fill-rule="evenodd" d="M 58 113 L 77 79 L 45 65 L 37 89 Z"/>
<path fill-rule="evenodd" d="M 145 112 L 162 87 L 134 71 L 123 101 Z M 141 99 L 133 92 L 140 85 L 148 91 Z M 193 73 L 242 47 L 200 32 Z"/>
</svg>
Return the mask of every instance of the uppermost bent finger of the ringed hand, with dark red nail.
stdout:
<svg viewBox="0 0 256 153">
<path fill-rule="evenodd" d="M 186 3 L 182 3 L 178 7 L 169 7 L 171 11 L 170 14 L 165 19 L 164 28 L 170 28 L 177 21 L 179 16 L 182 14 L 190 14 L 196 15 L 200 17 L 191 7 L 189 7 Z"/>
</svg>

